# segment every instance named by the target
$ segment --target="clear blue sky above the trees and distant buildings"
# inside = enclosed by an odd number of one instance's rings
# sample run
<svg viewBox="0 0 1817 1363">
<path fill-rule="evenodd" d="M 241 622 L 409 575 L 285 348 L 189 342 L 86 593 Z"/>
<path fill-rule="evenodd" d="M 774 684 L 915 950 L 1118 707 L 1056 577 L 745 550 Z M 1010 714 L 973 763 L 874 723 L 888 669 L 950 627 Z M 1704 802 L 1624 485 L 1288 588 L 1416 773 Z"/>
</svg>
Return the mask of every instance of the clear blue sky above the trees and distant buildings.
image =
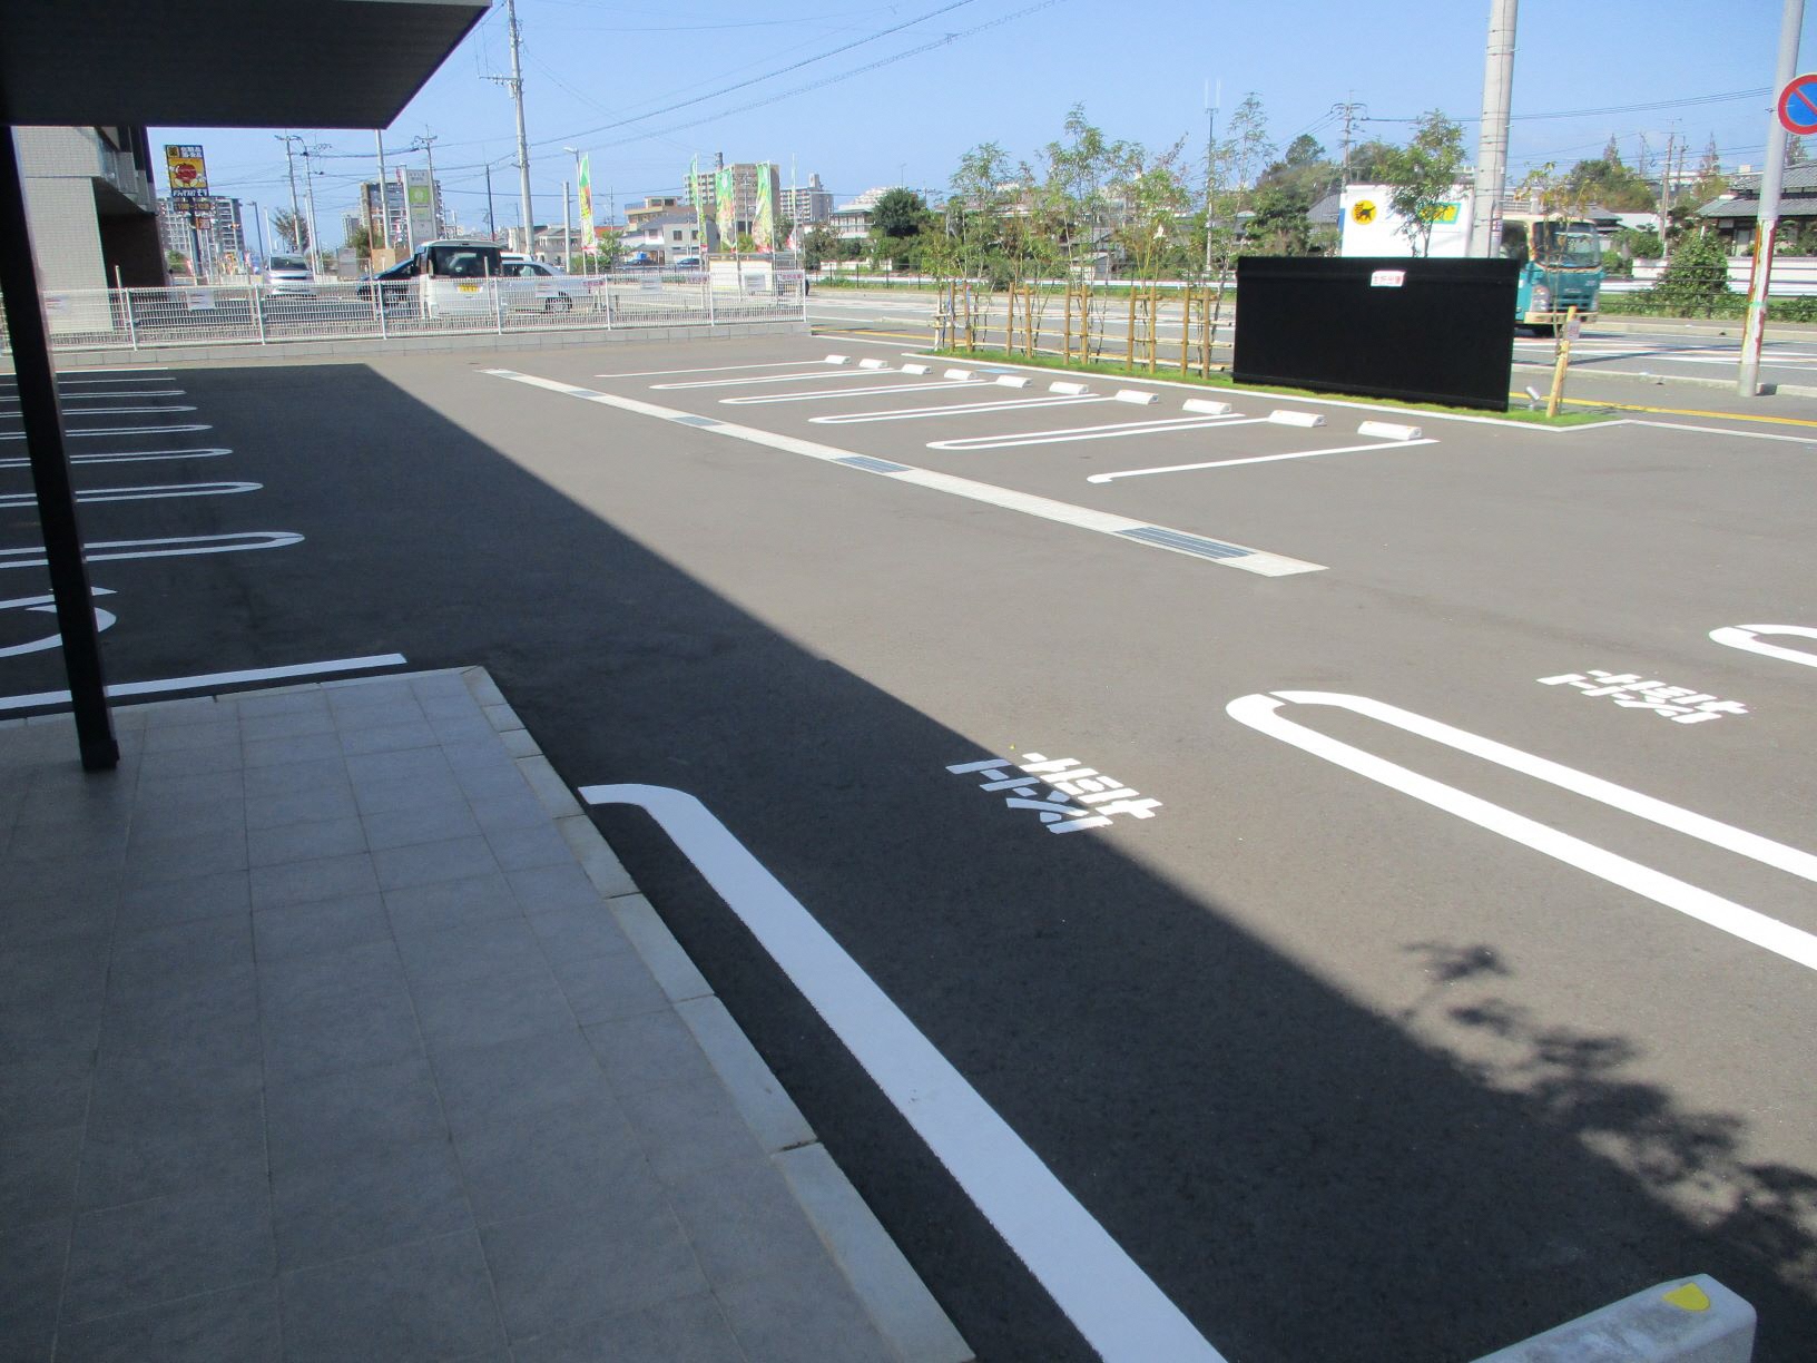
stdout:
<svg viewBox="0 0 1817 1363">
<path fill-rule="evenodd" d="M 1330 109 L 1343 100 L 1366 107 L 1359 138 L 1403 140 L 1408 125 L 1397 120 L 1425 109 L 1479 113 L 1490 11 L 1488 0 L 674 4 L 520 0 L 538 220 L 561 220 L 561 182 L 574 174 L 563 145 L 591 151 L 601 209 L 609 191 L 620 209 L 676 193 L 689 158 L 707 164 L 718 151 L 729 162 L 774 160 L 783 184 L 792 160 L 803 184 L 818 171 L 843 202 L 878 184 L 943 187 L 959 154 L 987 140 L 1032 160 L 1076 102 L 1112 136 L 1203 145 L 1208 80 L 1221 85 L 1225 114 L 1256 91 L 1281 145 L 1310 131 L 1335 151 Z M 1610 134 L 1630 164 L 1641 134 L 1657 156 L 1677 133 L 1693 156 L 1713 136 L 1724 165 L 1759 165 L 1770 98 L 1710 96 L 1772 84 L 1781 13 L 1777 0 L 1526 0 L 1512 178 L 1537 162 L 1595 156 Z M 885 29 L 898 31 L 876 36 Z M 1801 69 L 1817 67 L 1817 5 L 1802 55 Z M 505 71 L 500 2 L 385 133 L 400 153 L 392 164 L 414 165 L 423 158 L 407 151 L 412 140 L 438 136 L 436 173 L 467 227 L 485 224 L 487 162 L 498 225 L 518 220 L 511 98 L 483 78 Z M 829 80 L 847 73 L 858 75 Z M 718 93 L 730 85 L 741 89 Z M 331 149 L 313 164 L 322 236 L 336 244 L 354 185 L 376 171 L 372 136 L 293 131 Z M 1475 124 L 1465 133 L 1474 149 Z M 216 193 L 267 211 L 289 202 L 271 131 L 153 129 L 153 142 L 200 142 Z"/>
</svg>

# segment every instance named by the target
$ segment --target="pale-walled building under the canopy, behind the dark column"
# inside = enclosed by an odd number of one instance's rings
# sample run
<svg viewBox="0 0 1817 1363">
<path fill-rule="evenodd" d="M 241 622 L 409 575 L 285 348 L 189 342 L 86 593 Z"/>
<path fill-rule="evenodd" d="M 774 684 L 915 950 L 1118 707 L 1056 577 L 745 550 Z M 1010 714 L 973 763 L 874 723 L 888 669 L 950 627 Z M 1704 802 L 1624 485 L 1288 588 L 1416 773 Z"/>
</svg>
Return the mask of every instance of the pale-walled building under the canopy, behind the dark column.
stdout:
<svg viewBox="0 0 1817 1363">
<path fill-rule="evenodd" d="M 144 127 L 16 127 L 13 140 L 45 293 L 167 282 Z"/>
</svg>

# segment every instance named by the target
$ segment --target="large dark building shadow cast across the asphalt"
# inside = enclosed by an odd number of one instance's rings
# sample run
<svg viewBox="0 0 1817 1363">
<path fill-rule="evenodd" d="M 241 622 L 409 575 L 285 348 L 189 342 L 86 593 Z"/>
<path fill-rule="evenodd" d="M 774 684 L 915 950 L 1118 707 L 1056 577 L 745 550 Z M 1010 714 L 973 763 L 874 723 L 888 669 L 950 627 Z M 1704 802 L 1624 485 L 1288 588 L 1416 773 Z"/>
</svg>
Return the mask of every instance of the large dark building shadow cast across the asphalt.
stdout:
<svg viewBox="0 0 1817 1363">
<path fill-rule="evenodd" d="M 1761 1363 L 1808 1358 L 1812 1176 L 1624 1079 L 1630 1040 L 1530 1016 L 1492 947 L 1410 956 L 1492 1001 L 1359 1009 L 1114 840 L 981 796 L 945 771 L 988 756 L 970 741 L 372 371 L 185 378 L 236 451 L 193 476 L 265 491 L 96 507 L 89 536 L 131 514 L 307 540 L 111 565 L 113 678 L 482 663 L 569 783 L 698 794 L 1232 1359 L 1470 1359 L 1690 1272 L 1755 1303 Z M 979 1358 L 1090 1358 L 654 823 L 598 818 Z M 1515 1060 L 1455 1060 L 1415 1023 Z M 1670 1205 L 1706 1185 L 1708 1225 Z"/>
</svg>

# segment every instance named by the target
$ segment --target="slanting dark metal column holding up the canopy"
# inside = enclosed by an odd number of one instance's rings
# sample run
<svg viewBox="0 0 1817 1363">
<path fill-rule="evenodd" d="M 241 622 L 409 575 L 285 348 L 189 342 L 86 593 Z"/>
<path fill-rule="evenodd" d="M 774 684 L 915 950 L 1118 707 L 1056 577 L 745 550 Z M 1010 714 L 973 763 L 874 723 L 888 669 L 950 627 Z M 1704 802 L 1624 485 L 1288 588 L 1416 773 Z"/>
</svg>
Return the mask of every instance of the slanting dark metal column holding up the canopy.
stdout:
<svg viewBox="0 0 1817 1363">
<path fill-rule="evenodd" d="M 5 91 L 0 89 L 0 109 Z M 64 667 L 76 707 L 76 740 L 87 771 L 120 763 L 113 736 L 107 691 L 102 682 L 102 642 L 94 629 L 89 565 L 82 560 L 76 525 L 76 494 L 69 483 L 69 451 L 64 447 L 64 414 L 56 405 L 56 374 L 51 369 L 51 338 L 38 298 L 38 267 L 31 258 L 25 224 L 25 182 L 18 169 L 13 127 L 0 124 L 0 294 L 18 378 L 18 411 L 25 423 L 31 482 L 38 492 L 38 527 L 51 567 L 56 598 L 56 629 L 64 636 Z"/>
</svg>

